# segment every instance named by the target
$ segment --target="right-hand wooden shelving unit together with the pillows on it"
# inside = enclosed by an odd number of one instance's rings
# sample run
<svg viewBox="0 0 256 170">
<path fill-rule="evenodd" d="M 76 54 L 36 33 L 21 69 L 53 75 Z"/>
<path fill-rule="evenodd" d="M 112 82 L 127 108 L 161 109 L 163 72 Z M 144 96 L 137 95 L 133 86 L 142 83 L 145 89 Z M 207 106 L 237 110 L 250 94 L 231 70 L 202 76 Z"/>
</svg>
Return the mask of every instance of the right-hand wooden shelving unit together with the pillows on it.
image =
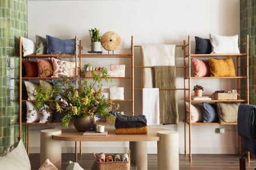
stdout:
<svg viewBox="0 0 256 170">
<path fill-rule="evenodd" d="M 184 143 L 186 146 L 186 124 L 189 125 L 189 153 L 191 154 L 191 125 L 237 125 L 237 111 L 241 103 L 249 102 L 248 97 L 248 35 L 245 44 L 239 45 L 238 35 L 221 36 L 209 34 L 209 39 L 195 37 L 195 54 L 191 54 L 191 42 L 189 36 L 188 52 L 184 53 L 184 84 L 189 88 L 189 93 L 184 94 Z M 243 48 L 246 53 L 240 53 Z M 201 59 L 201 58 L 202 59 Z M 198 59 L 200 58 L 200 59 Z M 244 66 L 241 60 L 244 59 Z M 236 66 L 234 66 L 236 61 Z M 244 68 L 245 75 L 241 75 L 240 69 Z M 237 85 L 236 100 L 192 100 L 191 82 L 193 79 L 234 79 Z M 246 93 L 245 99 L 240 99 L 241 81 L 246 82 L 243 87 Z M 192 104 L 193 102 L 193 104 Z"/>
</svg>

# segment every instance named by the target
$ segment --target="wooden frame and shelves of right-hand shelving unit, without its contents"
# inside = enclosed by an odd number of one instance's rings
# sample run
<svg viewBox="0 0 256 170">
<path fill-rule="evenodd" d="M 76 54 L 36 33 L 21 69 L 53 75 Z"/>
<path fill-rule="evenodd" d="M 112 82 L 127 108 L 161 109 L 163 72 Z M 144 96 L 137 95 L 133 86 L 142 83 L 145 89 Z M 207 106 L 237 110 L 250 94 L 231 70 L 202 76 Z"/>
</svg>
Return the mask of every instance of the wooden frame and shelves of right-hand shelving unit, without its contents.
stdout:
<svg viewBox="0 0 256 170">
<path fill-rule="evenodd" d="M 184 44 L 185 40 L 183 41 Z M 184 144 L 185 144 L 185 155 L 187 155 L 187 139 L 186 139 L 186 125 L 189 125 L 189 160 L 192 161 L 192 153 L 191 153 L 191 125 L 219 125 L 219 122 L 211 122 L 211 123 L 204 123 L 204 122 L 191 122 L 191 102 L 244 102 L 249 103 L 249 97 L 248 97 L 248 35 L 246 38 L 246 53 L 240 53 L 240 54 L 191 54 L 191 47 L 190 47 L 190 36 L 189 36 L 189 44 L 188 44 L 188 54 L 186 54 L 186 50 L 184 50 L 183 53 L 183 62 L 184 62 L 184 88 L 186 88 L 186 84 L 188 84 L 187 88 L 189 89 L 189 95 L 187 96 L 186 93 L 184 93 L 184 107 L 186 107 L 186 102 L 189 102 L 189 120 L 187 120 L 187 112 L 186 108 L 184 111 Z M 191 77 L 191 57 L 235 57 L 236 58 L 236 77 Z M 239 66 L 240 64 L 240 58 L 246 57 L 246 66 Z M 188 60 L 186 62 L 186 59 Z M 188 63 L 188 66 L 186 65 Z M 240 76 L 240 68 L 244 67 L 246 68 L 246 76 Z M 188 70 L 187 70 L 188 69 Z M 188 73 L 189 77 L 186 77 L 186 73 Z M 240 80 L 246 79 L 246 99 L 238 99 L 237 100 L 191 100 L 191 79 L 236 79 L 237 84 L 237 93 L 241 92 L 240 89 Z M 186 82 L 188 81 L 188 83 Z M 227 123 L 227 124 L 221 124 L 221 125 L 237 125 L 237 122 Z M 239 144 L 240 145 L 240 144 Z M 249 157 L 248 157 L 249 158 Z"/>
</svg>

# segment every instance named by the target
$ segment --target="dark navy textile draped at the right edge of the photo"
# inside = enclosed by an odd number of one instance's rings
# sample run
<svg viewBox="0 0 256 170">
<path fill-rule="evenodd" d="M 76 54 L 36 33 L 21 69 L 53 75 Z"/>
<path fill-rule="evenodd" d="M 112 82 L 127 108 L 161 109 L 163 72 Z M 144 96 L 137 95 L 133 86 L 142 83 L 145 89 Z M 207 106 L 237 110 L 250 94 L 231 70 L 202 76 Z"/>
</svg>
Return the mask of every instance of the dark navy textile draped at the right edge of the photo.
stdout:
<svg viewBox="0 0 256 170">
<path fill-rule="evenodd" d="M 250 104 L 240 104 L 237 115 L 237 131 L 240 136 L 255 139 L 254 108 Z"/>
</svg>

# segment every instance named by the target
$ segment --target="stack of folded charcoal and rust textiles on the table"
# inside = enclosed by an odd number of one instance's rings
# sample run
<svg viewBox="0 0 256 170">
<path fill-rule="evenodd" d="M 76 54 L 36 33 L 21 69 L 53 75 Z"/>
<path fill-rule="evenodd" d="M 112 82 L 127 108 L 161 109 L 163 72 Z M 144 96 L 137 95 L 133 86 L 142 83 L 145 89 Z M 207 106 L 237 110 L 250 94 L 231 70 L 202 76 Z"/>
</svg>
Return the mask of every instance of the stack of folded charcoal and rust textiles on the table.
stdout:
<svg viewBox="0 0 256 170">
<path fill-rule="evenodd" d="M 117 135 L 147 134 L 147 119 L 145 115 L 127 116 L 117 114 L 115 121 Z"/>
</svg>

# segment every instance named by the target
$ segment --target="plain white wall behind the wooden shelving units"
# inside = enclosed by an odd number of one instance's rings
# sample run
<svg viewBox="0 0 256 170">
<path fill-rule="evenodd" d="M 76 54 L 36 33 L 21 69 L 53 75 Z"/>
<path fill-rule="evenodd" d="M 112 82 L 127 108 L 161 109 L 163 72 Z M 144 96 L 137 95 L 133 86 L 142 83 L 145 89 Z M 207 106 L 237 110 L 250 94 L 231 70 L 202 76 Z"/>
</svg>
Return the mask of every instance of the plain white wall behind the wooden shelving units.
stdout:
<svg viewBox="0 0 256 170">
<path fill-rule="evenodd" d="M 90 50 L 88 30 L 99 28 L 101 35 L 107 31 L 118 32 L 122 39 L 120 48 L 115 53 L 130 53 L 131 35 L 134 45 L 141 44 L 183 44 L 183 39 L 191 35 L 191 52 L 194 53 L 194 36 L 209 38 L 209 33 L 220 35 L 240 34 L 239 0 L 183 0 L 183 1 L 28 1 L 29 38 L 35 34 L 69 39 L 75 35 L 82 40 L 83 53 Z M 104 53 L 106 51 L 102 49 Z M 176 66 L 183 65 L 183 51 L 176 48 Z M 95 67 L 108 67 L 112 63 L 125 63 L 129 76 L 129 60 L 83 60 Z M 140 52 L 135 50 L 135 65 L 140 66 Z M 140 88 L 140 71 L 135 72 L 135 87 Z M 183 88 L 183 70 L 177 70 L 177 88 Z M 204 86 L 204 95 L 211 95 L 218 89 L 233 89 L 234 80 L 198 80 L 191 86 Z M 113 85 L 130 89 L 130 81 L 113 81 Z M 126 98 L 130 98 L 126 92 Z M 135 92 L 135 112 L 141 113 L 140 92 Z M 180 153 L 184 153 L 184 106 L 183 92 L 179 96 L 179 125 L 158 126 L 179 132 Z M 121 104 L 126 113 L 130 111 L 129 103 Z M 30 151 L 39 152 L 40 129 L 51 126 L 30 126 Z M 225 134 L 217 133 L 217 128 L 225 127 Z M 61 128 L 61 126 L 58 126 Z M 188 126 L 187 126 L 188 128 Z M 188 131 L 187 131 L 188 132 Z M 236 153 L 236 126 L 193 125 L 193 153 Z M 187 135 L 188 144 L 188 135 Z M 125 151 L 129 144 L 84 142 L 84 152 L 102 151 L 118 153 Z M 63 142 L 63 152 L 73 152 L 74 143 Z M 157 152 L 157 143 L 148 142 L 148 153 Z"/>
</svg>

